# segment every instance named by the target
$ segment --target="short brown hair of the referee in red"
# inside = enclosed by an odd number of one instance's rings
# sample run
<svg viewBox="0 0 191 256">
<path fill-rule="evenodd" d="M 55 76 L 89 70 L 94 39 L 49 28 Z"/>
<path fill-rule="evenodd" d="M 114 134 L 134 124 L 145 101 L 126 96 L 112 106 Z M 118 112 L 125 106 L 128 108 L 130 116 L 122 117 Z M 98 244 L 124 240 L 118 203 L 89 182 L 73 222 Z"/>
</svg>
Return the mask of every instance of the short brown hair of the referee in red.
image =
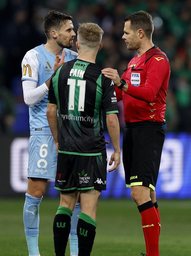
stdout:
<svg viewBox="0 0 191 256">
<path fill-rule="evenodd" d="M 153 18 L 150 13 L 145 11 L 134 12 L 124 18 L 124 22 L 130 21 L 130 29 L 136 32 L 139 29 L 143 29 L 148 39 L 152 38 L 154 24 Z"/>
</svg>

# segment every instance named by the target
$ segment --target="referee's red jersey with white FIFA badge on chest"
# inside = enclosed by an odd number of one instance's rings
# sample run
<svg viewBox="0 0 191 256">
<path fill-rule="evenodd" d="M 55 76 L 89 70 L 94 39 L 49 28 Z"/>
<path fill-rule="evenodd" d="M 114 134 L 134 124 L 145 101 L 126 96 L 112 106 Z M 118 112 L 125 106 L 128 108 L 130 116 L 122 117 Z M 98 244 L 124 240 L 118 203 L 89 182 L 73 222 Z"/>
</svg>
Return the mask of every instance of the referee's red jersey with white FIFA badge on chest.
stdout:
<svg viewBox="0 0 191 256">
<path fill-rule="evenodd" d="M 127 92 L 115 87 L 117 101 L 123 100 L 125 123 L 164 122 L 170 65 L 158 46 L 131 59 L 122 77 Z"/>
</svg>

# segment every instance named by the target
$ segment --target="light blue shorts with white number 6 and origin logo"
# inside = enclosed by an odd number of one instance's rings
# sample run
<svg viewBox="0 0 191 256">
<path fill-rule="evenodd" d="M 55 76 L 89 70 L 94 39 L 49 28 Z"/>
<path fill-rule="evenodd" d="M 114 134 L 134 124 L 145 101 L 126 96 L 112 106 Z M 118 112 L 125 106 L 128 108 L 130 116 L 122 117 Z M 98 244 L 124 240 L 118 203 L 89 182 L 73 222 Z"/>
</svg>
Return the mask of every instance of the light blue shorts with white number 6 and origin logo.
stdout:
<svg viewBox="0 0 191 256">
<path fill-rule="evenodd" d="M 27 177 L 55 180 L 56 168 L 57 154 L 52 135 L 31 135 Z"/>
</svg>

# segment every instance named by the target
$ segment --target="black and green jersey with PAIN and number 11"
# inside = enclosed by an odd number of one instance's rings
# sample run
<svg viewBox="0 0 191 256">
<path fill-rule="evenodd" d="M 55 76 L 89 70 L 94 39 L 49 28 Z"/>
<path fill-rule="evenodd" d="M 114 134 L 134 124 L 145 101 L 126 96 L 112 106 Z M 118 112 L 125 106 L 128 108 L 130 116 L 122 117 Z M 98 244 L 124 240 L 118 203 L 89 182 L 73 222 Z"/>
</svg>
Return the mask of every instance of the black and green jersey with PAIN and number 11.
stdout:
<svg viewBox="0 0 191 256">
<path fill-rule="evenodd" d="M 95 63 L 74 59 L 51 77 L 48 102 L 58 106 L 58 152 L 106 154 L 102 111 L 118 113 L 113 81 Z"/>
</svg>

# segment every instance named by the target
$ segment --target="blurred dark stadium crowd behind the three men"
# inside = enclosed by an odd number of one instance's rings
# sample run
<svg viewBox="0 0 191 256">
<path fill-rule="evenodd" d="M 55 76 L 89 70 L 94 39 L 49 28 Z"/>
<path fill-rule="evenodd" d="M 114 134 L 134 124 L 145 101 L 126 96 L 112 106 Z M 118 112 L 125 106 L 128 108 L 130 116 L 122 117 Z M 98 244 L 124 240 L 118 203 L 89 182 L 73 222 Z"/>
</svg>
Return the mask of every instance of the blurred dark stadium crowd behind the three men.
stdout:
<svg viewBox="0 0 191 256">
<path fill-rule="evenodd" d="M 29 134 L 28 107 L 23 100 L 21 61 L 25 53 L 46 43 L 43 16 L 55 9 L 78 22 L 95 22 L 104 30 L 103 49 L 97 56 L 102 68 L 111 67 L 123 74 L 135 51 L 127 51 L 122 40 L 123 18 L 145 10 L 154 22 L 153 43 L 167 54 L 171 66 L 165 119 L 167 131 L 191 132 L 191 1 L 149 0 L 2 0 L 0 41 L 0 133 Z M 76 40 L 76 38 L 75 38 Z M 76 51 L 76 44 L 72 50 Z M 119 105 L 123 108 L 123 104 Z M 123 111 L 119 114 L 124 127 Z"/>
</svg>

